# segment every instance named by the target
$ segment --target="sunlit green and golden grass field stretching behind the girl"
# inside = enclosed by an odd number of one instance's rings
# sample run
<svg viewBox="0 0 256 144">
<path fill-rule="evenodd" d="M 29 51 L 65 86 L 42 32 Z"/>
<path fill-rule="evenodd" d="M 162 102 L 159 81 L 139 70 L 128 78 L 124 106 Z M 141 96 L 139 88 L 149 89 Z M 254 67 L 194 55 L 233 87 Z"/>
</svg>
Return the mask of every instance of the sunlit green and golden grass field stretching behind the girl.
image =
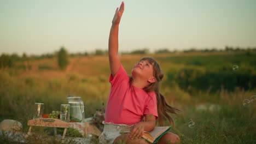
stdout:
<svg viewBox="0 0 256 144">
<path fill-rule="evenodd" d="M 176 125 L 171 130 L 181 137 L 181 143 L 256 143 L 256 104 L 251 103 L 248 107 L 242 104 L 244 99 L 256 95 L 253 83 L 256 81 L 255 53 L 249 56 L 225 52 L 147 56 L 155 58 L 165 73 L 161 92 L 167 102 L 182 110 L 182 113 L 173 116 Z M 141 57 L 144 55 L 120 57 L 129 75 L 132 65 Z M 85 117 L 91 117 L 96 109 L 102 107 L 102 103 L 106 104 L 110 90 L 108 57 L 72 57 L 69 61 L 65 71 L 59 70 L 56 58 L 17 62 L 14 68 L 0 69 L 0 121 L 15 119 L 27 131 L 26 123 L 32 118 L 30 111 L 35 102 L 44 103 L 44 113 L 50 113 L 60 110 L 61 104 L 67 104 L 67 94 L 82 97 Z M 235 64 L 239 66 L 237 71 L 232 70 Z M 188 75 L 181 79 L 181 69 L 188 68 L 196 69 L 201 75 L 196 72 L 196 76 Z M 214 86 L 195 83 L 207 71 L 217 77 L 218 74 L 228 74 L 229 79 L 225 77 L 223 86 L 211 91 Z M 247 78 L 243 80 L 238 76 Z M 182 83 L 183 79 L 187 83 Z M 211 79 L 213 77 L 207 77 L 207 80 Z M 233 79 L 242 79 L 243 85 L 248 86 L 237 87 L 233 85 Z M 191 121 L 195 124 L 190 128 Z M 0 139 L 3 142 L 3 138 Z"/>
</svg>

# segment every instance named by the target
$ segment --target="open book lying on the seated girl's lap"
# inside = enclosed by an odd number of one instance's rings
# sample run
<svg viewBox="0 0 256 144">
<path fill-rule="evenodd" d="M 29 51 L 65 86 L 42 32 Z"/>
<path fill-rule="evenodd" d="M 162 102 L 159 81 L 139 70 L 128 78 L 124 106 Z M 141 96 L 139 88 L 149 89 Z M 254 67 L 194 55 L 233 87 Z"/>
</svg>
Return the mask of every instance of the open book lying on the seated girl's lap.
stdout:
<svg viewBox="0 0 256 144">
<path fill-rule="evenodd" d="M 168 127 L 155 127 L 152 131 L 144 131 L 143 138 L 151 143 L 156 143 L 162 135 L 166 134 L 171 129 Z"/>
</svg>

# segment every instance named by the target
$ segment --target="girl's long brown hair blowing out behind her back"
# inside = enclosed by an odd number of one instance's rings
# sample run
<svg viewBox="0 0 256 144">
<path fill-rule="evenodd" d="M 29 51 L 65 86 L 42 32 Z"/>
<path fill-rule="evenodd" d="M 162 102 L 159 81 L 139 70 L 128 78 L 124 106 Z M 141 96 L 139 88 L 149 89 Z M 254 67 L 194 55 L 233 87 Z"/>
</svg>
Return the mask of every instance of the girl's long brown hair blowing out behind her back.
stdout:
<svg viewBox="0 0 256 144">
<path fill-rule="evenodd" d="M 148 61 L 150 64 L 153 65 L 153 76 L 156 79 L 156 82 L 150 83 L 147 87 L 144 87 L 144 91 L 152 92 L 154 91 L 156 94 L 156 100 L 158 101 L 158 120 L 160 126 L 164 125 L 164 122 L 168 119 L 171 125 L 174 125 L 173 119 L 171 118 L 168 113 L 178 113 L 180 110 L 176 107 L 172 107 L 166 103 L 164 95 L 162 95 L 159 91 L 160 82 L 162 81 L 162 77 L 164 77 L 164 73 L 160 68 L 158 62 L 156 62 L 151 57 L 143 57 L 139 61 Z M 132 79 L 130 79 L 130 82 Z"/>
</svg>

